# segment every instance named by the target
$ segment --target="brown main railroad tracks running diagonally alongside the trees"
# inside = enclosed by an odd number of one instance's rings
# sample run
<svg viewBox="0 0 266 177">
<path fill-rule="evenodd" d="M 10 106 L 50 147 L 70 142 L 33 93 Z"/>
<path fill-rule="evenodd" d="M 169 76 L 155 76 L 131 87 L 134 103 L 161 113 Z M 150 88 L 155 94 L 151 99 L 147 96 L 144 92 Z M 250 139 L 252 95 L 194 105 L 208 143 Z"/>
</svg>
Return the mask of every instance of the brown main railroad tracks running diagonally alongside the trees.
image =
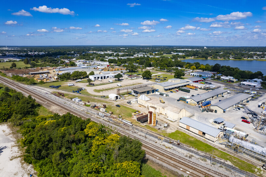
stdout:
<svg viewBox="0 0 266 177">
<path fill-rule="evenodd" d="M 64 105 L 64 106 L 62 106 L 62 104 L 59 103 L 58 101 L 56 101 L 56 100 L 55 100 L 55 101 L 51 101 L 51 99 L 49 99 L 49 98 L 47 98 L 47 97 L 45 97 L 45 96 L 43 96 L 43 95 L 41 95 L 41 94 L 38 94 L 38 93 L 36 93 L 36 92 L 34 92 L 34 91 L 30 90 L 30 89 L 27 89 L 27 88 L 26 88 L 26 89 L 23 89 L 19 84 L 17 84 L 16 82 L 10 81 L 9 79 L 6 79 L 6 78 L 2 78 L 2 77 L 0 77 L 0 81 L 4 82 L 4 83 L 7 84 L 7 85 L 11 85 L 13 88 L 16 88 L 16 89 L 18 89 L 18 90 L 21 90 L 22 92 L 25 92 L 25 93 L 27 93 L 28 95 L 32 95 L 32 96 L 35 97 L 36 99 L 42 100 L 42 101 L 40 101 L 41 103 L 42 103 L 43 101 L 46 101 L 47 103 L 49 103 L 49 104 L 51 104 L 51 105 L 55 105 L 55 106 L 57 106 L 58 108 L 61 108 L 61 109 L 64 110 L 65 112 L 70 112 L 70 113 L 72 113 L 72 114 L 74 114 L 74 115 L 76 115 L 76 116 L 79 116 L 79 117 L 83 118 L 83 119 L 90 118 L 92 121 L 97 122 L 97 123 L 101 123 L 101 124 L 103 124 L 103 125 L 105 125 L 105 126 L 111 126 L 111 127 L 114 126 L 113 124 L 108 123 L 107 121 L 103 121 L 103 120 L 97 119 L 97 118 L 95 118 L 95 117 L 93 117 L 93 116 L 90 116 L 90 115 L 88 115 L 88 114 L 86 114 L 86 113 L 81 113 L 81 112 L 77 111 L 76 109 L 74 109 L 74 108 L 71 107 L 71 106 L 68 106 L 68 105 Z M 67 107 L 67 108 L 66 108 L 66 107 Z M 144 141 L 144 140 L 142 140 L 142 139 L 140 139 L 140 138 L 138 138 L 138 137 L 136 137 L 136 136 L 133 136 L 133 135 L 127 133 L 127 132 L 124 132 L 124 131 L 122 131 L 122 130 L 120 130 L 120 129 L 116 129 L 116 130 L 117 130 L 117 132 L 121 133 L 122 135 L 127 135 L 127 136 L 129 136 L 129 137 L 131 137 L 131 138 L 139 139 L 139 140 L 142 142 L 142 144 L 143 144 L 143 148 L 149 148 L 149 150 L 151 150 L 151 151 L 153 151 L 153 152 L 156 151 L 158 154 L 161 154 L 161 155 L 163 155 L 164 157 L 167 157 L 167 159 L 169 159 L 169 160 L 172 160 L 172 161 L 174 161 L 174 162 L 176 162 L 176 163 L 179 162 L 180 165 L 186 165 L 186 167 L 187 167 L 188 169 L 190 169 L 190 170 L 193 170 L 193 171 L 196 170 L 196 172 L 202 174 L 203 176 L 204 176 L 204 174 L 208 174 L 208 176 L 212 176 L 212 175 L 215 175 L 215 176 L 226 176 L 226 175 L 224 175 L 224 174 L 222 174 L 222 173 L 220 173 L 220 172 L 216 172 L 216 171 L 214 171 L 214 170 L 208 169 L 208 168 L 205 167 L 205 166 L 201 166 L 201 165 L 199 165 L 199 164 L 197 164 L 197 163 L 194 163 L 194 162 L 192 162 L 192 161 L 190 161 L 190 160 L 187 160 L 187 159 L 185 159 L 185 158 L 183 158 L 183 157 L 177 156 L 177 155 L 174 154 L 174 153 L 171 153 L 171 152 L 169 152 L 169 151 L 167 151 L 167 150 L 165 150 L 165 149 L 162 149 L 162 148 L 160 148 L 160 147 L 158 147 L 158 146 L 155 146 L 154 144 L 151 144 L 151 143 L 149 143 L 149 142 L 147 142 L 147 141 Z M 167 155 L 167 154 L 168 154 L 168 155 Z M 154 158 L 157 158 L 157 157 L 155 157 L 154 154 L 152 154 L 151 156 L 154 157 Z M 174 157 L 175 157 L 175 158 L 174 158 Z M 185 159 L 185 160 L 182 159 L 183 161 L 180 161 L 180 160 L 178 160 L 178 158 L 183 158 L 183 159 Z M 164 160 L 164 161 L 165 161 L 165 160 Z M 191 165 L 188 164 L 189 161 L 190 161 Z M 195 168 L 195 166 L 197 166 L 197 168 Z M 176 169 L 179 169 L 179 166 L 176 166 L 175 168 L 176 168 Z M 199 168 L 202 168 L 202 169 L 199 169 Z M 206 170 L 206 171 L 208 171 L 208 172 L 211 173 L 211 174 L 209 174 L 209 173 L 207 173 L 207 172 L 205 172 L 205 171 L 203 171 L 203 170 Z M 243 171 L 243 170 L 239 170 L 239 169 L 238 169 L 238 172 L 241 172 L 241 173 L 246 174 L 246 175 L 248 175 L 248 176 L 255 176 L 255 175 L 253 175 L 252 173 L 245 172 L 245 171 Z M 197 175 L 196 175 L 196 176 L 197 176 Z"/>
</svg>

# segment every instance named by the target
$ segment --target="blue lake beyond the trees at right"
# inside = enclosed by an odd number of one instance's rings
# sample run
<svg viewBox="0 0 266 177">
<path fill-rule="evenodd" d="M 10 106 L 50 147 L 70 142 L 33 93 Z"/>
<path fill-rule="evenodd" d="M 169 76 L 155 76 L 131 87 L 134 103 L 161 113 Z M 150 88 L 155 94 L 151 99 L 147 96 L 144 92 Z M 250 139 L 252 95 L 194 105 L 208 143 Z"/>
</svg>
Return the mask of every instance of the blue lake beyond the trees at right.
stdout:
<svg viewBox="0 0 266 177">
<path fill-rule="evenodd" d="M 249 70 L 254 72 L 261 71 L 266 75 L 266 61 L 257 61 L 257 60 L 201 60 L 201 59 L 186 59 L 182 60 L 184 62 L 195 63 L 199 62 L 200 64 L 209 64 L 214 65 L 216 63 L 230 67 L 238 67 L 240 70 Z"/>
</svg>

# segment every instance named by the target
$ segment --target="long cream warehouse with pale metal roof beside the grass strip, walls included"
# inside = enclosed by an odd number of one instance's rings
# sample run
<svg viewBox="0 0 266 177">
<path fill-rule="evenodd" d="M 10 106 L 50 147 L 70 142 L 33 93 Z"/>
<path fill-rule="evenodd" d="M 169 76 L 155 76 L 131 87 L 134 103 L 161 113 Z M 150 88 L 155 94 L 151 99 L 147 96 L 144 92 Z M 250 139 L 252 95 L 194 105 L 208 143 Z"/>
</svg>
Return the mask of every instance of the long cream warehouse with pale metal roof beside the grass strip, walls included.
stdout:
<svg viewBox="0 0 266 177">
<path fill-rule="evenodd" d="M 183 117 L 179 121 L 179 126 L 214 142 L 224 134 L 224 131 L 222 130 L 188 117 Z"/>
</svg>

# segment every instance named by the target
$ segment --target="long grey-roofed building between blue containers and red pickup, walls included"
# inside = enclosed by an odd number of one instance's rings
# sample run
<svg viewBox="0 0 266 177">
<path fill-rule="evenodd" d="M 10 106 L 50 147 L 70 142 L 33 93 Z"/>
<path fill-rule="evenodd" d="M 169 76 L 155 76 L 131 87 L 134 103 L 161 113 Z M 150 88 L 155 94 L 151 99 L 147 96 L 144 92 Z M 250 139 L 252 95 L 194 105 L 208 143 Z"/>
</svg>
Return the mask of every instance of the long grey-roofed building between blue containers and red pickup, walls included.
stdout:
<svg viewBox="0 0 266 177">
<path fill-rule="evenodd" d="M 237 106 L 240 103 L 245 103 L 246 101 L 251 99 L 251 95 L 246 93 L 239 93 L 225 100 L 219 101 L 215 104 L 212 104 L 211 109 L 217 110 L 219 113 L 223 113 L 231 108 Z"/>
</svg>

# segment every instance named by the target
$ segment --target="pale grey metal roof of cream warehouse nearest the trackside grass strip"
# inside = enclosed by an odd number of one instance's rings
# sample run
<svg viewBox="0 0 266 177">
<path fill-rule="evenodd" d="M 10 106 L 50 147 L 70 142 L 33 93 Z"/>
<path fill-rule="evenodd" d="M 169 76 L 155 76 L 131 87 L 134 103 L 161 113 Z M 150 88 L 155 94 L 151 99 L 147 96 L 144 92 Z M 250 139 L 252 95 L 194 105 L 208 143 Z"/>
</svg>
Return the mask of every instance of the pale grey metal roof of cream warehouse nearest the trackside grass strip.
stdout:
<svg viewBox="0 0 266 177">
<path fill-rule="evenodd" d="M 208 135 L 211 135 L 213 137 L 216 137 L 220 132 L 223 132 L 222 130 L 219 130 L 217 128 L 214 128 L 212 126 L 209 126 L 209 125 L 202 123 L 202 122 L 199 122 L 197 120 L 190 119 L 188 117 L 183 117 L 182 119 L 180 119 L 179 122 L 181 122 L 185 125 L 188 125 L 194 129 L 197 129 L 201 132 L 204 132 Z"/>
</svg>

